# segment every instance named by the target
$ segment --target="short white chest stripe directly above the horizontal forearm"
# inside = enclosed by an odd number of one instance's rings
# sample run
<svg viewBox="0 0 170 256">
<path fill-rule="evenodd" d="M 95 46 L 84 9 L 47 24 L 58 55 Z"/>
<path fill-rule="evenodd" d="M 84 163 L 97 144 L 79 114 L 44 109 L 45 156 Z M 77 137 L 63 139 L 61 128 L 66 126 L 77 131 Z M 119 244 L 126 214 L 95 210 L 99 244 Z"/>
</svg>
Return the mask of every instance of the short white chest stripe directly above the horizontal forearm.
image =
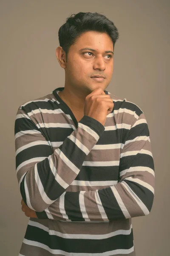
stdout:
<svg viewBox="0 0 170 256">
<path fill-rule="evenodd" d="M 113 186 L 118 183 L 117 180 L 89 181 L 89 180 L 73 180 L 70 185 L 73 186 Z"/>
</svg>

